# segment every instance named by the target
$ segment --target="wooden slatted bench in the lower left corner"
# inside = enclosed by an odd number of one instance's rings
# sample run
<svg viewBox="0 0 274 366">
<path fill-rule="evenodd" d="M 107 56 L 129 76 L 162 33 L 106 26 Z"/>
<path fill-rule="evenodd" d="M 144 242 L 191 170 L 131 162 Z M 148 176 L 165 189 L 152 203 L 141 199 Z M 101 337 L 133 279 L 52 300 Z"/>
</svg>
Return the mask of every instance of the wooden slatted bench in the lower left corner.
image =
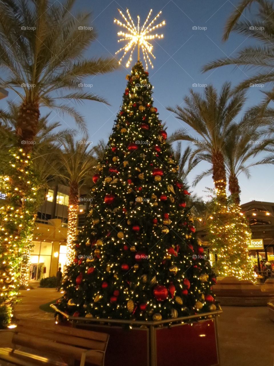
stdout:
<svg viewBox="0 0 274 366">
<path fill-rule="evenodd" d="M 67 366 L 80 360 L 80 366 L 101 366 L 108 340 L 106 333 L 20 319 L 17 328 L 0 330 L 0 360 L 22 366 Z"/>
</svg>

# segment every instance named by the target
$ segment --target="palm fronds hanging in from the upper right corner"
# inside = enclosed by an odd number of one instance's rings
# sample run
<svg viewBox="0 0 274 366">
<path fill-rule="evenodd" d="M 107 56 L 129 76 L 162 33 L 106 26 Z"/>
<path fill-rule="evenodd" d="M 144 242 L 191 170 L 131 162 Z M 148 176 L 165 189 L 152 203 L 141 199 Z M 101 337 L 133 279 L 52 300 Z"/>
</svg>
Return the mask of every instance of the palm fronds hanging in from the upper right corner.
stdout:
<svg viewBox="0 0 274 366">
<path fill-rule="evenodd" d="M 244 9 L 250 8 L 252 3 L 259 4 L 258 14 L 255 18 L 248 20 L 245 18 L 240 21 Z M 274 5 L 267 0 L 242 0 L 235 11 L 229 17 L 225 26 L 224 40 L 227 40 L 231 31 L 252 37 L 259 41 L 255 45 L 247 46 L 239 51 L 236 57 L 226 57 L 212 61 L 203 67 L 203 71 L 224 65 L 245 66 L 256 70 L 253 76 L 250 76 L 241 82 L 235 91 L 248 88 L 254 84 L 265 84 L 274 81 L 273 72 L 273 42 L 274 42 Z M 274 99 L 274 90 L 266 92 L 266 102 Z"/>
</svg>

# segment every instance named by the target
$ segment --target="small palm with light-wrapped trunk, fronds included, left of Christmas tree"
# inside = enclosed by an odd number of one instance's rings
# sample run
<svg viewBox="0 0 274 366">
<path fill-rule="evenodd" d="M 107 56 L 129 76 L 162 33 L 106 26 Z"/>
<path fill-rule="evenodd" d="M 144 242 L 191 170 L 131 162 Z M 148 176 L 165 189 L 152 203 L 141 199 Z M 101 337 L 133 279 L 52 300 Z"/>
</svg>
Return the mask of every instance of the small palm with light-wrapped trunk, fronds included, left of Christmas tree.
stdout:
<svg viewBox="0 0 274 366">
<path fill-rule="evenodd" d="M 79 212 L 79 190 L 84 185 L 92 186 L 92 175 L 97 160 L 94 157 L 94 150 L 88 150 L 89 144 L 85 139 L 75 142 L 72 136 L 68 136 L 63 146 L 64 148 L 59 151 L 58 158 L 60 161 L 60 179 L 70 188 L 66 246 L 66 265 L 69 265 L 75 258 L 74 241 Z"/>
</svg>

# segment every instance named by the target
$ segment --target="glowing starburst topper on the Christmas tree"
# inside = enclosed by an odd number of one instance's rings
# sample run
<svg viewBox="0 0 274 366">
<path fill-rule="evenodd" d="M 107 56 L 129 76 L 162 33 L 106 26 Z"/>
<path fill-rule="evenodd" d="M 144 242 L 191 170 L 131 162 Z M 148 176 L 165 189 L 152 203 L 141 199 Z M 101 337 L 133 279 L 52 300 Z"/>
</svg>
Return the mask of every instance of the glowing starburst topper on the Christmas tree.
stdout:
<svg viewBox="0 0 274 366">
<path fill-rule="evenodd" d="M 151 12 L 152 9 L 149 11 L 149 14 L 144 22 L 144 25 L 142 25 L 140 27 L 140 16 L 137 16 L 138 19 L 138 24 L 137 27 L 135 26 L 132 17 L 129 14 L 129 10 L 126 10 L 126 13 L 128 14 L 128 18 L 122 13 L 122 11 L 120 9 L 118 9 L 119 13 L 121 14 L 122 18 L 125 20 L 126 23 L 122 23 L 120 22 L 120 20 L 114 19 L 114 23 L 117 23 L 119 26 L 125 28 L 126 30 L 128 30 L 129 33 L 125 33 L 122 31 L 119 31 L 117 34 L 119 37 L 121 37 L 118 42 L 121 41 L 126 41 L 127 44 L 120 48 L 116 53 L 119 53 L 121 51 L 124 51 L 123 56 L 121 57 L 121 59 L 119 60 L 119 64 L 121 64 L 122 59 L 125 57 L 125 55 L 130 52 L 129 55 L 129 59 L 128 62 L 126 63 L 126 67 L 130 66 L 130 62 L 132 61 L 132 54 L 134 52 L 134 49 L 136 48 L 137 45 L 137 51 L 138 51 L 138 61 L 140 61 L 140 48 L 142 49 L 142 53 L 144 56 L 144 61 L 145 61 L 145 65 L 146 68 L 148 68 L 148 63 L 151 65 L 151 67 L 153 68 L 153 64 L 151 62 L 151 59 L 149 56 L 152 56 L 153 59 L 155 59 L 155 56 L 152 53 L 152 49 L 153 46 L 150 43 L 150 41 L 154 40 L 155 38 L 163 38 L 164 35 L 163 34 L 152 34 L 153 31 L 157 30 L 159 27 L 162 27 L 165 25 L 165 21 L 163 20 L 163 22 L 157 24 L 157 25 L 153 25 L 153 23 L 155 22 L 155 20 L 160 16 L 161 11 L 155 16 L 154 19 L 151 20 L 151 22 L 146 25 L 149 22 L 149 17 L 151 16 Z"/>
</svg>

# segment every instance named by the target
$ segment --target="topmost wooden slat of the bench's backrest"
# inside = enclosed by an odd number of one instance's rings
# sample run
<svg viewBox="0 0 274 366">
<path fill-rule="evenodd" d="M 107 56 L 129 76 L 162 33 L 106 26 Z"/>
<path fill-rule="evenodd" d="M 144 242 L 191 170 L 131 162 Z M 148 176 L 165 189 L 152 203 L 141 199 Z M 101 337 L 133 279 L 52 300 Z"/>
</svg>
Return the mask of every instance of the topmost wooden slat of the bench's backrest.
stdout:
<svg viewBox="0 0 274 366">
<path fill-rule="evenodd" d="M 45 322 L 37 320 L 30 321 L 29 319 L 23 319 L 23 318 L 19 320 L 18 325 L 22 325 L 28 328 L 41 329 L 42 331 L 46 328 L 51 332 L 62 333 L 66 335 L 87 338 L 102 342 L 106 342 L 109 337 L 107 333 L 94 332 L 93 330 L 70 328 L 68 326 L 49 324 L 48 322 L 45 324 Z"/>
</svg>

